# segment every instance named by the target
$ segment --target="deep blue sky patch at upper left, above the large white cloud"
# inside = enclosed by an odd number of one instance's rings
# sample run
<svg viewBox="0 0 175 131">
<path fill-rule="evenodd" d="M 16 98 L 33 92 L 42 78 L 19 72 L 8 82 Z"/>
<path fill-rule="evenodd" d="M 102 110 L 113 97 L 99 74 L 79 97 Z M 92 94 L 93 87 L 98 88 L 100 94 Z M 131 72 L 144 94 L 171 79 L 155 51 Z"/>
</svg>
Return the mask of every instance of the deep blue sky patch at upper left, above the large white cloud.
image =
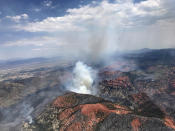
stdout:
<svg viewBox="0 0 175 131">
<path fill-rule="evenodd" d="M 90 2 L 89 0 L 1 0 L 0 7 L 1 16 L 26 13 L 32 20 L 61 16 L 68 8 L 77 8 Z"/>
</svg>

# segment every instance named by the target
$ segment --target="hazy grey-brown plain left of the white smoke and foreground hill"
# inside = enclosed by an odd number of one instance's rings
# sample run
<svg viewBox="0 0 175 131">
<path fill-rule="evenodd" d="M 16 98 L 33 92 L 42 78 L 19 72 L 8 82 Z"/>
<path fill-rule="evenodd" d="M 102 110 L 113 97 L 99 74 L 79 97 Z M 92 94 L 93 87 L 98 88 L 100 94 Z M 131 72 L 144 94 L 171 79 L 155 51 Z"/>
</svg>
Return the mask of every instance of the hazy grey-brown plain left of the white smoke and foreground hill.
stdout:
<svg viewBox="0 0 175 131">
<path fill-rule="evenodd" d="M 22 64 L 21 64 L 22 63 Z M 3 64 L 4 65 L 4 64 Z M 32 117 L 63 92 L 71 77 L 72 64 L 66 61 L 7 64 L 0 67 L 0 128 L 19 131 L 22 121 Z"/>
</svg>

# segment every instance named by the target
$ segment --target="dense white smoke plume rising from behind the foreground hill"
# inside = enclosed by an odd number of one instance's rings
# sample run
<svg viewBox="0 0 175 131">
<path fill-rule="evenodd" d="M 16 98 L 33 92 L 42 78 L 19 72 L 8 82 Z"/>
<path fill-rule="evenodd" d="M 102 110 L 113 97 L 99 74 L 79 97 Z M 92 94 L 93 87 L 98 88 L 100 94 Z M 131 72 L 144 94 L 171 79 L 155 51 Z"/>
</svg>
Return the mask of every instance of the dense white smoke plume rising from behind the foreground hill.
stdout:
<svg viewBox="0 0 175 131">
<path fill-rule="evenodd" d="M 95 91 L 93 89 L 95 77 L 96 71 L 79 61 L 73 69 L 73 79 L 68 89 L 76 93 L 92 94 Z"/>
</svg>

